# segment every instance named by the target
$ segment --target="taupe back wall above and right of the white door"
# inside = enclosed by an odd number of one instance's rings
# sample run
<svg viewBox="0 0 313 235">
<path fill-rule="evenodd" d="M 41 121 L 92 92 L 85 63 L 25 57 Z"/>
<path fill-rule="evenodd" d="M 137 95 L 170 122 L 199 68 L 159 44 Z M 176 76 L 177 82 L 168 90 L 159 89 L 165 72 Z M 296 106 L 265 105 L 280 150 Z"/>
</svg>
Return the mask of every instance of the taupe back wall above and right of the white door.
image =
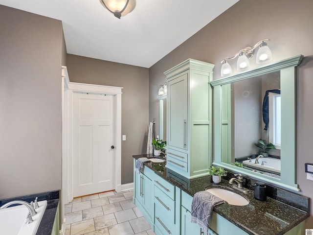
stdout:
<svg viewBox="0 0 313 235">
<path fill-rule="evenodd" d="M 67 55 L 71 82 L 123 87 L 122 184 L 133 182 L 133 155 L 146 153 L 149 112 L 149 71 L 146 68 Z"/>
</svg>

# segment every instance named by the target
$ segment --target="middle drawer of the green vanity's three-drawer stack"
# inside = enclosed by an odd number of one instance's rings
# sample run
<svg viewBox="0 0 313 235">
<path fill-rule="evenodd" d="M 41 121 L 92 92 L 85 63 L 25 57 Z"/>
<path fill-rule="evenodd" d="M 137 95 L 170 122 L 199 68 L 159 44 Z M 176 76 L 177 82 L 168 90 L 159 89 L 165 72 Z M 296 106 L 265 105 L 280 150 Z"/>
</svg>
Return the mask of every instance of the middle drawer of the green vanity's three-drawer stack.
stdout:
<svg viewBox="0 0 313 235">
<path fill-rule="evenodd" d="M 155 186 L 155 211 L 162 214 L 162 220 L 175 221 L 175 202 Z"/>
</svg>

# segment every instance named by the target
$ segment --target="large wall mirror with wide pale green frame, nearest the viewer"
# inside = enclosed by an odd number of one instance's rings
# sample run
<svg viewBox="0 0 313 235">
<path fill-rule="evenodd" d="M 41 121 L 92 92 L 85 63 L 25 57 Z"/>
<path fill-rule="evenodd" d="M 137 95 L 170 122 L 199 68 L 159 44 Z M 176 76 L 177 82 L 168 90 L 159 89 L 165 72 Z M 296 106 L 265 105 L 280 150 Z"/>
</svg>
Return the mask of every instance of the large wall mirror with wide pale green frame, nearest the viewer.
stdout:
<svg viewBox="0 0 313 235">
<path fill-rule="evenodd" d="M 295 67 L 302 58 L 210 82 L 214 165 L 299 191 L 295 184 Z"/>
</svg>

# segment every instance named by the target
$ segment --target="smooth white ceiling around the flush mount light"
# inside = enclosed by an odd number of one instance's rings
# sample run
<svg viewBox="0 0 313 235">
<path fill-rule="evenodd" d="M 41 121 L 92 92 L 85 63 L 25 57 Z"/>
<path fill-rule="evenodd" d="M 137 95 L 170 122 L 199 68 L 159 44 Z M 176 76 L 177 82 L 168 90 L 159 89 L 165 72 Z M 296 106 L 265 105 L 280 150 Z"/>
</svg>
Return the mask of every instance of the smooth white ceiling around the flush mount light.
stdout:
<svg viewBox="0 0 313 235">
<path fill-rule="evenodd" d="M 67 53 L 150 68 L 238 0 L 137 0 L 117 19 L 99 0 L 0 0 L 63 22 Z"/>
</svg>

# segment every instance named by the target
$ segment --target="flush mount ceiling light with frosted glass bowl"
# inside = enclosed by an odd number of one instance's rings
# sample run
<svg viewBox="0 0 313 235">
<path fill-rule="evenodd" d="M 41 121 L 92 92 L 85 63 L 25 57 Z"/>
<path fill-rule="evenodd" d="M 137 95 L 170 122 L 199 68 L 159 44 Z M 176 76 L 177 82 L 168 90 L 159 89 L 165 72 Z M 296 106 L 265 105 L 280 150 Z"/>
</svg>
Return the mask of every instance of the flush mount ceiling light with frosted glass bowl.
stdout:
<svg viewBox="0 0 313 235">
<path fill-rule="evenodd" d="M 100 0 L 100 2 L 118 19 L 133 11 L 136 6 L 136 0 Z"/>
</svg>

